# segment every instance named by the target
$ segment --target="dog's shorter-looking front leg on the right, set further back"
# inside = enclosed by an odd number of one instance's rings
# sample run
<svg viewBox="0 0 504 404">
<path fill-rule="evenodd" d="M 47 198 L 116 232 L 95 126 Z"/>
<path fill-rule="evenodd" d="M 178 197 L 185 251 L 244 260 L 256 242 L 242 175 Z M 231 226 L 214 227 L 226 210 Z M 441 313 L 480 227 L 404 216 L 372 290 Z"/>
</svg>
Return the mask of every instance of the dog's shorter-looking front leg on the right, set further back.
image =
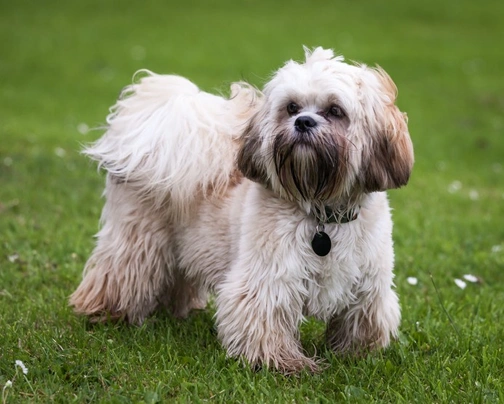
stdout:
<svg viewBox="0 0 504 404">
<path fill-rule="evenodd" d="M 360 353 L 386 347 L 397 336 L 401 314 L 390 275 L 365 277 L 357 300 L 330 319 L 326 339 L 331 349 Z"/>
</svg>

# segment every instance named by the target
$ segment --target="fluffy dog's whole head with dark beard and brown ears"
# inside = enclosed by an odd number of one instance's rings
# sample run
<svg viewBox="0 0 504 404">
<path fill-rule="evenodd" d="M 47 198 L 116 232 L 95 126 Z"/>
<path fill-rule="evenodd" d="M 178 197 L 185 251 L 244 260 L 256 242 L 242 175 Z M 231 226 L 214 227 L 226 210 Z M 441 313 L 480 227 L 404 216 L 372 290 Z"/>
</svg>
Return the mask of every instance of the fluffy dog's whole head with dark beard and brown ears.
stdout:
<svg viewBox="0 0 504 404">
<path fill-rule="evenodd" d="M 338 203 L 405 185 L 413 166 L 396 87 L 381 69 L 348 65 L 332 51 L 306 52 L 264 89 L 242 136 L 238 167 L 299 202 Z"/>
</svg>

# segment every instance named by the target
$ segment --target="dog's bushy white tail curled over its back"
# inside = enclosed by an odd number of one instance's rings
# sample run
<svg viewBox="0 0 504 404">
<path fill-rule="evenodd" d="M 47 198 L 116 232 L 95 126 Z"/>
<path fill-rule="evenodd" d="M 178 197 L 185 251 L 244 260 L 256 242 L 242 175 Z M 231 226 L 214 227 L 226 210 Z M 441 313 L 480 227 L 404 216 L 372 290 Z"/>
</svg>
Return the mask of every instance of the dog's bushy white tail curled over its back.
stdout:
<svg viewBox="0 0 504 404">
<path fill-rule="evenodd" d="M 183 211 L 195 195 L 221 192 L 232 180 L 236 140 L 261 94 L 246 83 L 229 99 L 189 80 L 149 71 L 125 88 L 107 117 L 107 132 L 84 150 L 109 173 L 156 204 Z"/>
</svg>

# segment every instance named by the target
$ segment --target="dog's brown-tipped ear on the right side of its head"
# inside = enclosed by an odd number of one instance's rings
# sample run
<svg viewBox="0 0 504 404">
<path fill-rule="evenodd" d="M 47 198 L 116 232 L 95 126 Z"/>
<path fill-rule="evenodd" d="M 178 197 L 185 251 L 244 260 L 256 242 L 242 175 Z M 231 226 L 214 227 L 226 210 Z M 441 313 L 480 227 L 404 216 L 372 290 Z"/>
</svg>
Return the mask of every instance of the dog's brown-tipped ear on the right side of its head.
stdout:
<svg viewBox="0 0 504 404">
<path fill-rule="evenodd" d="M 394 104 L 397 87 L 381 68 L 373 69 L 388 101 L 381 116 L 376 117 L 376 133 L 363 159 L 363 185 L 366 192 L 384 191 L 406 185 L 413 168 L 413 144 L 408 132 L 407 117 Z"/>
</svg>

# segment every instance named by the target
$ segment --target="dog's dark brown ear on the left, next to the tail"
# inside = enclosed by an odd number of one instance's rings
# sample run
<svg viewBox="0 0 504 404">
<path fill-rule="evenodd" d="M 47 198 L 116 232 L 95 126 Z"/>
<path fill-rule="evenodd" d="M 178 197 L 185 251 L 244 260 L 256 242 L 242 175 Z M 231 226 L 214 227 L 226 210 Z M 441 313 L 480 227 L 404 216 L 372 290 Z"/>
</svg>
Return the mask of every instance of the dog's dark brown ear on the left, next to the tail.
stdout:
<svg viewBox="0 0 504 404">
<path fill-rule="evenodd" d="M 261 135 L 257 114 L 252 117 L 247 128 L 240 136 L 240 147 L 236 163 L 240 172 L 249 180 L 266 184 L 268 175 L 261 158 Z"/>
</svg>

